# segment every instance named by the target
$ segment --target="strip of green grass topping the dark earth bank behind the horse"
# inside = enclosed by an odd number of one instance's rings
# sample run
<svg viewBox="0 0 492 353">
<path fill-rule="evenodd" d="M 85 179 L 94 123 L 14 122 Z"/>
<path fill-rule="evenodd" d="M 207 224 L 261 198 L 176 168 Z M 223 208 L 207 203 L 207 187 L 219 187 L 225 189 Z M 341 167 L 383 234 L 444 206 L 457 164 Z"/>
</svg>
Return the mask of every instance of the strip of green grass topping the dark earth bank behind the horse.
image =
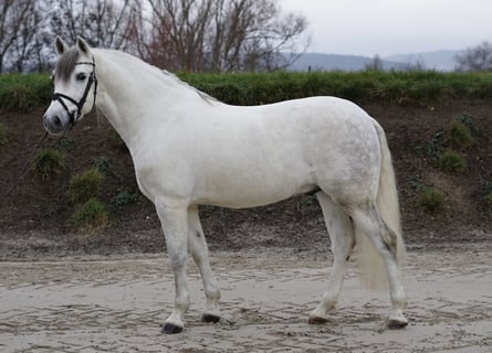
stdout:
<svg viewBox="0 0 492 353">
<path fill-rule="evenodd" d="M 308 96 L 337 96 L 357 103 L 433 101 L 492 97 L 492 73 L 314 72 L 179 73 L 191 86 L 234 105 L 259 105 Z M 29 111 L 51 100 L 48 74 L 0 75 L 0 110 Z"/>
</svg>

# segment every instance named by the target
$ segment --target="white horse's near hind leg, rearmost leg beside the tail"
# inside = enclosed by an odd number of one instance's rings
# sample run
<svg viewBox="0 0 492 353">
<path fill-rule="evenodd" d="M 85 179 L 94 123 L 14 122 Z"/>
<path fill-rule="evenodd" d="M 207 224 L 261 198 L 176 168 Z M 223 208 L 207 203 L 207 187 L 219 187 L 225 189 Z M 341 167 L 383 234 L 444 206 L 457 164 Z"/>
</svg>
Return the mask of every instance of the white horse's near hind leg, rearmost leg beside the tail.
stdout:
<svg viewBox="0 0 492 353">
<path fill-rule="evenodd" d="M 397 235 L 387 226 L 373 203 L 354 207 L 350 214 L 356 227 L 369 237 L 385 263 L 391 299 L 388 327 L 390 329 L 404 328 L 408 324 L 408 320 L 402 313 L 407 298 L 397 261 Z"/>
</svg>

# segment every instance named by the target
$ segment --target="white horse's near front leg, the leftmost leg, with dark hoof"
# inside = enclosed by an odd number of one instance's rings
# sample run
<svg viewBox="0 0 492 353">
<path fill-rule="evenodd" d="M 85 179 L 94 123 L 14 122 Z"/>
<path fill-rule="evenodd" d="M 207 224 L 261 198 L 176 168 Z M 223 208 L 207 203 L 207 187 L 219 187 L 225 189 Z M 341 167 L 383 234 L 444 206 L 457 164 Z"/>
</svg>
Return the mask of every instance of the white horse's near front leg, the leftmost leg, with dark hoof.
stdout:
<svg viewBox="0 0 492 353">
<path fill-rule="evenodd" d="M 175 275 L 175 309 L 167 318 L 163 332 L 178 333 L 185 327 L 184 315 L 189 309 L 186 281 L 188 259 L 188 205 L 181 202 L 156 202 L 157 214 L 166 237 L 169 264 Z"/>
</svg>

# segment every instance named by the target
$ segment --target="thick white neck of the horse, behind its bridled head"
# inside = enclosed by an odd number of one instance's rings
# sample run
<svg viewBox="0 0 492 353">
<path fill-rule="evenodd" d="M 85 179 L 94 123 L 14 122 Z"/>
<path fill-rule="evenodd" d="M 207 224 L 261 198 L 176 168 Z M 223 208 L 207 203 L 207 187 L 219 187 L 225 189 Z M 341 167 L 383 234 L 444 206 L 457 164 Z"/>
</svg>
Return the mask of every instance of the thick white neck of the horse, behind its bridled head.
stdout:
<svg viewBox="0 0 492 353">
<path fill-rule="evenodd" d="M 97 107 L 133 150 L 176 111 L 174 106 L 200 97 L 192 88 L 128 54 L 94 50 L 98 81 Z M 181 108 L 180 111 L 186 111 Z"/>
</svg>

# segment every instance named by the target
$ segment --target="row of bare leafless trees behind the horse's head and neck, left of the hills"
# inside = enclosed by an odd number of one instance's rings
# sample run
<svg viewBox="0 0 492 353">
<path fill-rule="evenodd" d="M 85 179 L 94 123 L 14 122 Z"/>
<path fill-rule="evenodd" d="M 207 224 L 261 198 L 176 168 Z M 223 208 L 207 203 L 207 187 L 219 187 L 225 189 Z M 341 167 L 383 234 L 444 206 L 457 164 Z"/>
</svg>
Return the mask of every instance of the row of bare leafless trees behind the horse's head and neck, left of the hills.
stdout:
<svg viewBox="0 0 492 353">
<path fill-rule="evenodd" d="M 168 69 L 275 69 L 295 55 L 306 21 L 276 0 L 0 0 L 0 72 L 45 71 L 52 41 L 81 35 Z M 302 47 L 304 50 L 305 47 Z"/>
</svg>

